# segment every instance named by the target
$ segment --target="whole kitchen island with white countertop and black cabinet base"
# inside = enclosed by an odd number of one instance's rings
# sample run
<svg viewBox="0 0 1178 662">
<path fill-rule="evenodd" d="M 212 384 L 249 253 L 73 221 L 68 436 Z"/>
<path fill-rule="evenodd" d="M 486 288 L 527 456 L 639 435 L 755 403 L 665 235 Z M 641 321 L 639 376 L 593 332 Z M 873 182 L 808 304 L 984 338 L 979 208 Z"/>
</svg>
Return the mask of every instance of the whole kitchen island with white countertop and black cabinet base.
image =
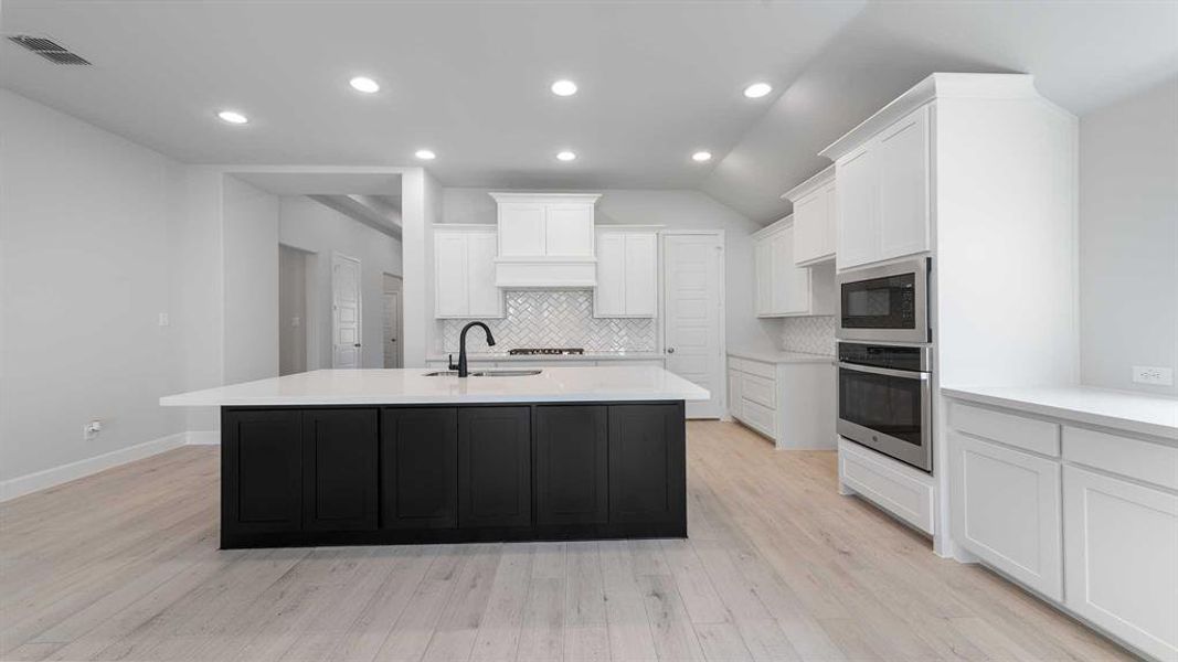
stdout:
<svg viewBox="0 0 1178 662">
<path fill-rule="evenodd" d="M 221 410 L 223 549 L 686 537 L 684 402 L 654 366 L 318 370 Z"/>
</svg>

